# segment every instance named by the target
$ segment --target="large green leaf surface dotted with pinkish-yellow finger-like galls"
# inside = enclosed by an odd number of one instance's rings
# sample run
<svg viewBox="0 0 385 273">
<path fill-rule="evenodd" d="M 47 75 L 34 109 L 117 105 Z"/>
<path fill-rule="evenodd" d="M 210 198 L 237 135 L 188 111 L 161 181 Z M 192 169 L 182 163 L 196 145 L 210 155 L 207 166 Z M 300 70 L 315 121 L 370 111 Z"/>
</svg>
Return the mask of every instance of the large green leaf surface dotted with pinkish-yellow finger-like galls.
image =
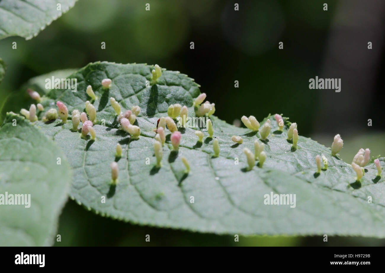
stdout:
<svg viewBox="0 0 385 273">
<path fill-rule="evenodd" d="M 90 99 L 85 93 L 91 85 L 98 99 L 96 140 L 80 138 L 71 121 L 64 125 L 38 122 L 38 126 L 63 148 L 74 171 L 70 196 L 79 204 L 102 216 L 159 227 L 188 229 L 218 234 L 328 234 L 385 237 L 385 183 L 377 177 L 373 163 L 361 184 L 355 182 L 355 172 L 342 160 L 332 157 L 329 148 L 303 136 L 298 148 L 291 149 L 286 140 L 290 124 L 287 118 L 283 132 L 273 116 L 272 129 L 265 141 L 266 161 L 262 168 L 246 170 L 243 148 L 254 150 L 259 132 L 237 128 L 211 116 L 214 136 L 220 145 L 219 157 L 213 157 L 213 139 L 204 131 L 204 142 L 197 142 L 194 131 L 180 129 L 179 152 L 172 152 L 170 132 L 166 130 L 162 167 L 155 167 L 154 131 L 159 116 L 167 115 L 173 103 L 189 106 L 189 116 L 195 116 L 193 99 L 199 86 L 186 75 L 163 71 L 157 84 L 146 87 L 153 66 L 144 64 L 89 64 L 70 76 L 78 81 L 77 92 L 53 89 L 47 104 L 63 101 L 70 111 L 83 111 Z M 112 79 L 110 89 L 102 89 L 101 81 Z M 109 103 L 115 97 L 122 111 L 134 105 L 141 107 L 137 124 L 139 140 L 119 129 L 116 115 Z M 208 98 L 211 99 L 211 98 Z M 211 100 L 215 100 L 212 98 Z M 47 108 L 48 109 L 48 108 Z M 229 108 L 231 109 L 231 108 Z M 102 126 L 105 120 L 107 126 Z M 300 128 L 300 126 L 299 126 Z M 231 141 L 241 135 L 243 143 Z M 330 142 L 333 137 L 331 136 Z M 115 159 L 115 146 L 120 143 L 123 155 Z M 328 169 L 316 175 L 316 155 L 328 158 Z M 185 174 L 181 156 L 187 158 L 191 171 Z M 110 185 L 110 163 L 117 160 L 119 184 Z M 147 165 L 146 162 L 149 164 Z M 239 164 L 236 163 L 239 160 Z M 385 161 L 381 158 L 381 165 Z M 295 207 L 265 205 L 265 194 L 296 194 Z M 368 203 L 368 196 L 372 203 Z M 191 203 L 191 197 L 194 203 Z M 105 203 L 102 202 L 105 197 Z"/>
</svg>

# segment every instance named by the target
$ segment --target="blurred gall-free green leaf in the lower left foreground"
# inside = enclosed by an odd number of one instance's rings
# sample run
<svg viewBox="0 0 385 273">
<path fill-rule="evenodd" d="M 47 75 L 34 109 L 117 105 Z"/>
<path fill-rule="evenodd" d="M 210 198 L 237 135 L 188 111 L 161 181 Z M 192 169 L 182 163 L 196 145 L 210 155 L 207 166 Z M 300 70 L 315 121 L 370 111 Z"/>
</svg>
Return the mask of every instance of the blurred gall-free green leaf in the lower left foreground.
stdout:
<svg viewBox="0 0 385 273">
<path fill-rule="evenodd" d="M 51 245 L 71 179 L 63 153 L 30 121 L 8 113 L 0 128 L 0 161 L 0 245 Z M 2 204 L 6 192 L 27 194 L 29 207 Z"/>
</svg>

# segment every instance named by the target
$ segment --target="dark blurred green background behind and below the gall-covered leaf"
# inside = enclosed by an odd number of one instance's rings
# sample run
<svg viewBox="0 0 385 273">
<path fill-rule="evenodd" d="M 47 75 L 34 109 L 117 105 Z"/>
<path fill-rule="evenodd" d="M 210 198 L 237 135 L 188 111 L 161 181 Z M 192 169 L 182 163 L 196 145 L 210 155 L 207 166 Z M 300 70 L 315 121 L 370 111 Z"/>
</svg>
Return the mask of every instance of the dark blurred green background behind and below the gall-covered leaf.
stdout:
<svg viewBox="0 0 385 273">
<path fill-rule="evenodd" d="M 0 56 L 8 64 L 0 105 L 28 79 L 50 71 L 95 61 L 159 64 L 194 78 L 216 104 L 216 115 L 229 123 L 242 115 L 262 120 L 283 113 L 298 123 L 301 135 L 327 147 L 340 133 L 346 162 L 359 148 L 385 155 L 384 13 L 382 0 L 79 0 L 32 40 L 0 41 Z M 341 92 L 309 89 L 315 76 L 341 78 Z M 385 245 L 385 240 L 346 237 L 323 243 L 321 236 L 252 236 L 234 243 L 233 236 L 102 218 L 74 201 L 64 208 L 58 234 L 58 246 Z M 146 234 L 151 243 L 145 243 Z"/>
</svg>

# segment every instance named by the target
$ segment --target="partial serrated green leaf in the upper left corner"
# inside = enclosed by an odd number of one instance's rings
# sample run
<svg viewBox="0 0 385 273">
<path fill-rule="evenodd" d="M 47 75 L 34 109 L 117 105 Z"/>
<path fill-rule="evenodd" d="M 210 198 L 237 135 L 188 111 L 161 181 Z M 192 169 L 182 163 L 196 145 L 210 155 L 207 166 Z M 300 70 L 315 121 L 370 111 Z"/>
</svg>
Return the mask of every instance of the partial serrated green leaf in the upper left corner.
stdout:
<svg viewBox="0 0 385 273">
<path fill-rule="evenodd" d="M 0 1 L 0 39 L 22 36 L 35 37 L 53 20 L 75 5 L 76 0 L 2 0 Z"/>
</svg>

